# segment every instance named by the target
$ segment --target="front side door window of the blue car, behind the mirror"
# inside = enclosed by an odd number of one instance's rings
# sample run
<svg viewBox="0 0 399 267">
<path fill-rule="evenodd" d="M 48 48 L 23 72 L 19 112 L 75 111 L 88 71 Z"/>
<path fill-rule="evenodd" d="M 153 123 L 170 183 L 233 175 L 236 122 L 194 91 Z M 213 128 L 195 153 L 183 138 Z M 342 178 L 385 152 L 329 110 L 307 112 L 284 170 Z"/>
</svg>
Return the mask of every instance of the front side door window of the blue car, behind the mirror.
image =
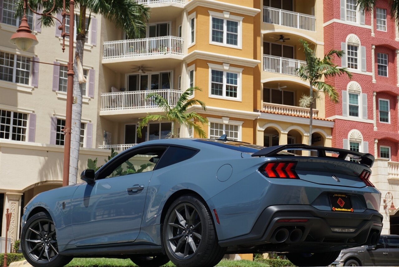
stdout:
<svg viewBox="0 0 399 267">
<path fill-rule="evenodd" d="M 101 172 L 98 179 L 152 171 L 164 151 L 165 148 L 158 147 L 155 149 L 140 149 L 136 153 L 124 155 Z"/>
</svg>

